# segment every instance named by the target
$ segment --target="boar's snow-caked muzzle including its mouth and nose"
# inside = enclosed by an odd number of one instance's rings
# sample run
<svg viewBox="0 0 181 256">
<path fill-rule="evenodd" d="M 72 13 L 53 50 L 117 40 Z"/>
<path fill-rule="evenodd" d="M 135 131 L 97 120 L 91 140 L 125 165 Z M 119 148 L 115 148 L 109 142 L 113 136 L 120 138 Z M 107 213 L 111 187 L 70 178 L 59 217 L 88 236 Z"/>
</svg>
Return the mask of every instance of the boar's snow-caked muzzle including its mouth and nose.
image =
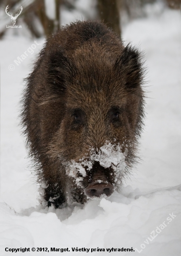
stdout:
<svg viewBox="0 0 181 256">
<path fill-rule="evenodd" d="M 110 196 L 120 187 L 126 166 L 126 155 L 121 146 L 106 143 L 98 152 L 91 149 L 78 162 L 71 160 L 66 173 L 87 198 L 96 199 Z"/>
</svg>

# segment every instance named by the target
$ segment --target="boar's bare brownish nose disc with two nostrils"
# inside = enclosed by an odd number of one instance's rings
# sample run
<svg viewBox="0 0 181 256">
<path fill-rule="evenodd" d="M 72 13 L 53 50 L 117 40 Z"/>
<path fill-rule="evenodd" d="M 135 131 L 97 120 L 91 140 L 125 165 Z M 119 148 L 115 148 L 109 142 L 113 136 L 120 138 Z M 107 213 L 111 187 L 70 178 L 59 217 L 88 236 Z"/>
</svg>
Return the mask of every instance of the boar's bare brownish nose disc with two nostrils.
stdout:
<svg viewBox="0 0 181 256">
<path fill-rule="evenodd" d="M 114 192 L 114 186 L 110 182 L 92 182 L 85 189 L 86 195 L 89 197 L 100 197 L 101 195 L 111 195 Z"/>
</svg>

